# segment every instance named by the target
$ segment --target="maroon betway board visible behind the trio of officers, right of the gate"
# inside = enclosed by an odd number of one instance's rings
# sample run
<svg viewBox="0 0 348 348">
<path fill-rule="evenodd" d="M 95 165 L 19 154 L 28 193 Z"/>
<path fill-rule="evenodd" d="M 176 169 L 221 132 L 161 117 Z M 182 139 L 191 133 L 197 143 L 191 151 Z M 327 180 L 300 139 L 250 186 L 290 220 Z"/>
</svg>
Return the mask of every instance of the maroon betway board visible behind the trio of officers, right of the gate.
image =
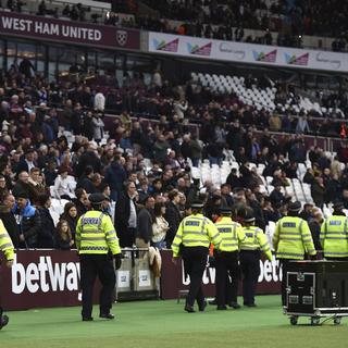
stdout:
<svg viewBox="0 0 348 348">
<path fill-rule="evenodd" d="M 188 289 L 189 278 L 185 278 L 184 268 L 172 262 L 172 252 L 162 250 L 162 272 L 161 272 L 161 297 L 163 299 L 177 298 L 179 290 Z M 270 262 L 262 258 L 260 261 L 260 276 L 257 287 L 257 295 L 281 294 L 279 262 L 275 259 Z M 281 274 L 279 274 L 281 273 Z M 202 277 L 204 296 L 215 296 L 215 269 L 207 268 Z M 239 284 L 239 295 L 241 295 L 241 284 Z"/>
</svg>

